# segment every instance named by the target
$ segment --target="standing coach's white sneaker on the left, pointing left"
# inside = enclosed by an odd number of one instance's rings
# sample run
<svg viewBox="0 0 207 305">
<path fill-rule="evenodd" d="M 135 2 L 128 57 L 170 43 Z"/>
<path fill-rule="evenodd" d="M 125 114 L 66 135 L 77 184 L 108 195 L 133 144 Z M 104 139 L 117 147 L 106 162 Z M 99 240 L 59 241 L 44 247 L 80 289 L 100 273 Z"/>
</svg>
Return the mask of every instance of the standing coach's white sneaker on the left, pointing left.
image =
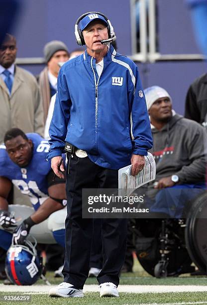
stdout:
<svg viewBox="0 0 207 305">
<path fill-rule="evenodd" d="M 81 298 L 84 297 L 83 289 L 76 289 L 72 284 L 61 283 L 49 291 L 49 297 L 63 297 L 63 298 Z"/>
</svg>

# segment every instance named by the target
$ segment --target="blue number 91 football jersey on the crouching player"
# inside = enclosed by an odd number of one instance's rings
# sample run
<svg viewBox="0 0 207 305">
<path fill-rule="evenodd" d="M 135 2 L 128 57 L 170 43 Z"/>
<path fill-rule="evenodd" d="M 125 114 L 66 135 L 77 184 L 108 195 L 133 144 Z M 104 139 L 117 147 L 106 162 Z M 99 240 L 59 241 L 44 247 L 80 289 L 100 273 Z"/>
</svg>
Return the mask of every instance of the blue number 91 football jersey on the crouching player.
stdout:
<svg viewBox="0 0 207 305">
<path fill-rule="evenodd" d="M 33 142 L 33 155 L 29 164 L 19 167 L 11 161 L 4 145 L 0 145 L 0 176 L 6 177 L 18 187 L 22 194 L 28 195 L 33 208 L 48 198 L 47 174 L 51 170 L 51 161 L 46 160 L 50 145 L 38 134 L 26 134 Z"/>
</svg>

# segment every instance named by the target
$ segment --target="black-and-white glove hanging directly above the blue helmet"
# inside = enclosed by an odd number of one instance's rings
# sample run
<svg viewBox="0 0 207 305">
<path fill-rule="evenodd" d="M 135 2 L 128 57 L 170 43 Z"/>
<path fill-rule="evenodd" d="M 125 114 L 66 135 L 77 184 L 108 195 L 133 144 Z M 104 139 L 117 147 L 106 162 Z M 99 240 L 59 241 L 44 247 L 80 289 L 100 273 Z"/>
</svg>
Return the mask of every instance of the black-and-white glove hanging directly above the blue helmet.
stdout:
<svg viewBox="0 0 207 305">
<path fill-rule="evenodd" d="M 25 219 L 18 228 L 15 229 L 12 236 L 12 245 L 24 245 L 24 241 L 29 234 L 31 227 L 35 222 L 28 217 Z"/>
</svg>

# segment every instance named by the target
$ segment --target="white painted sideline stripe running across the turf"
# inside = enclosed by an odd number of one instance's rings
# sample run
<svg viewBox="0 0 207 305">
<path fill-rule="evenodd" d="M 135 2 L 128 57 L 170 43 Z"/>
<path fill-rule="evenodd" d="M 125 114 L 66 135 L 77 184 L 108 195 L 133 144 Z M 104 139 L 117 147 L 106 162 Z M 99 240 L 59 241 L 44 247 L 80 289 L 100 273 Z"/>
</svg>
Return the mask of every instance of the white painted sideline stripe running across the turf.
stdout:
<svg viewBox="0 0 207 305">
<path fill-rule="evenodd" d="M 48 293 L 49 290 L 57 285 L 32 285 L 32 286 L 15 286 L 0 284 L 0 292 L 20 292 L 20 293 Z M 172 292 L 207 292 L 207 286 L 196 285 L 119 285 L 119 292 L 127 293 L 172 293 Z M 99 292 L 98 285 L 85 285 L 84 292 Z M 169 303 L 168 303 L 169 304 Z M 174 303 L 173 303 L 174 304 Z M 182 304 L 182 303 L 175 303 Z M 203 304 L 203 303 L 184 303 L 184 304 Z"/>
</svg>

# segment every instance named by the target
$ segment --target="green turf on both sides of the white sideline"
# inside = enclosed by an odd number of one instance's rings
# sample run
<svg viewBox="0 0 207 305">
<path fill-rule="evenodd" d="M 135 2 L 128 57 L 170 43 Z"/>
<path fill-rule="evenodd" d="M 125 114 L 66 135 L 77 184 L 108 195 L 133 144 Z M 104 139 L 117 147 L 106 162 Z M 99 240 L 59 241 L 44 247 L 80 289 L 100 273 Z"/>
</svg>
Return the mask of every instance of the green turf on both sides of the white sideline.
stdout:
<svg viewBox="0 0 207 305">
<path fill-rule="evenodd" d="M 191 277 L 190 275 L 182 275 L 176 278 L 156 279 L 148 275 L 135 260 L 133 273 L 122 274 L 120 277 L 120 285 L 207 285 L 207 277 Z M 51 284 L 59 284 L 62 282 L 60 278 L 54 278 L 53 272 L 47 272 L 47 279 Z M 2 281 L 0 281 L 2 283 Z M 37 281 L 33 286 L 45 284 L 43 280 Z M 86 284 L 98 284 L 97 280 L 90 278 Z M 99 293 L 85 293 L 84 298 L 50 298 L 45 293 L 8 293 L 6 288 L 1 286 L 0 289 L 0 305 L 3 304 L 87 304 L 87 305 L 101 305 L 101 304 L 169 304 L 169 305 L 207 305 L 207 292 L 181 292 L 181 293 L 120 293 L 119 298 L 100 298 Z M 3 301 L 3 296 L 17 296 L 17 295 L 29 295 L 31 302 L 18 302 L 18 301 Z"/>
</svg>

